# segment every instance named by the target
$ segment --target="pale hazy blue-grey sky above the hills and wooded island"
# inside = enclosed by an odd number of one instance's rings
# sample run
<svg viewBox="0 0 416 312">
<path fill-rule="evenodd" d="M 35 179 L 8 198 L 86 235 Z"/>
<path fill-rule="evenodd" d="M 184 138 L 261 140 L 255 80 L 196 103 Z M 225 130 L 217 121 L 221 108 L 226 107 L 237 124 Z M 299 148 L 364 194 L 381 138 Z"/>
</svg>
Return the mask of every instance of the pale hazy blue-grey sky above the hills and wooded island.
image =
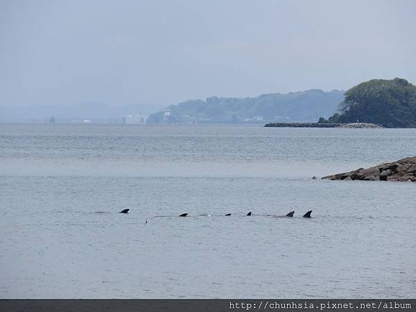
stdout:
<svg viewBox="0 0 416 312">
<path fill-rule="evenodd" d="M 416 84 L 416 1 L 0 0 L 0 105 Z"/>
</svg>

